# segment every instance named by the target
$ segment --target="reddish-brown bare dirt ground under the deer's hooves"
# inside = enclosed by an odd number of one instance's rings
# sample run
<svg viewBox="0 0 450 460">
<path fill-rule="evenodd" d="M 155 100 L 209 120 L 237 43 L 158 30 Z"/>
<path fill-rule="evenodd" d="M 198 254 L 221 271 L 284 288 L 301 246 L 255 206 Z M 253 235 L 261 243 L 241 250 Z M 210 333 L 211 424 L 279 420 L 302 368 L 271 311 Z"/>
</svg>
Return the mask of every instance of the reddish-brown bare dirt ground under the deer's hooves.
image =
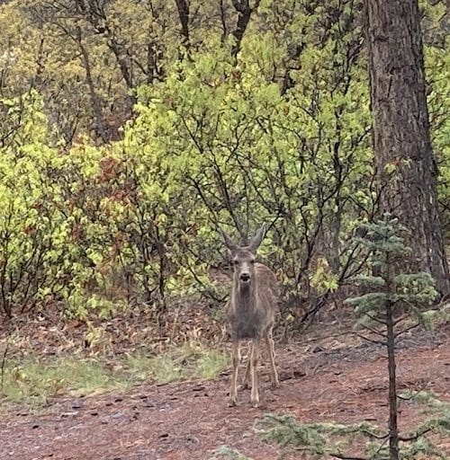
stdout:
<svg viewBox="0 0 450 460">
<path fill-rule="evenodd" d="M 278 344 L 277 349 L 282 385 L 270 388 L 263 363 L 260 408 L 250 407 L 248 390 L 239 393 L 237 408 L 229 408 L 226 374 L 208 382 L 58 399 L 39 413 L 22 408 L 0 415 L 0 458 L 206 460 L 227 445 L 268 460 L 280 450 L 253 428 L 265 413 L 292 413 L 305 422 L 387 420 L 386 359 L 380 346 L 338 338 Z M 450 328 L 401 341 L 398 380 L 400 389 L 433 390 L 449 401 Z M 417 416 L 402 408 L 401 428 L 413 427 Z M 442 443 L 450 447 L 448 440 Z"/>
</svg>

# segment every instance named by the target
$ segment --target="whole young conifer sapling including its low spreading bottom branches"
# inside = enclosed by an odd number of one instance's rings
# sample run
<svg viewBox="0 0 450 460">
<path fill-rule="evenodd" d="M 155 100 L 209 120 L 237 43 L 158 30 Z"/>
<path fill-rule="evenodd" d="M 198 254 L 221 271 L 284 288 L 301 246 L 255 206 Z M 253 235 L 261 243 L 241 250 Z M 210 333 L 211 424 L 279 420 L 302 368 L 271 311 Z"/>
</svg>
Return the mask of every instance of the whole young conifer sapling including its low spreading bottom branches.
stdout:
<svg viewBox="0 0 450 460">
<path fill-rule="evenodd" d="M 408 395 L 409 400 L 427 403 L 433 417 L 422 423 L 414 433 L 399 434 L 397 425 L 397 394 L 395 345 L 402 333 L 410 331 L 419 324 L 431 325 L 434 312 L 427 310 L 437 297 L 434 282 L 428 273 L 404 273 L 405 259 L 410 258 L 411 249 L 405 244 L 407 231 L 396 218 L 385 215 L 382 220 L 365 224 L 361 230 L 364 237 L 356 240 L 368 250 L 368 268 L 371 275 L 360 275 L 358 283 L 365 290 L 361 296 L 347 299 L 347 304 L 355 305 L 360 316 L 359 323 L 372 332 L 377 343 L 387 349 L 389 372 L 389 432 L 369 425 L 367 422 L 353 425 L 336 423 L 298 424 L 290 416 L 267 415 L 259 422 L 263 427 L 261 434 L 266 439 L 274 439 L 284 446 L 305 448 L 313 456 L 323 458 L 332 456 L 340 459 L 363 459 L 346 456 L 343 445 L 329 446 L 326 435 L 355 437 L 357 434 L 369 439 L 366 453 L 372 460 L 399 460 L 399 442 L 402 441 L 401 456 L 412 460 L 418 455 L 428 458 L 445 458 L 439 449 L 426 437 L 435 429 L 448 433 L 450 430 L 450 404 L 443 403 L 433 395 L 420 392 Z M 399 263 L 401 262 L 401 263 Z M 374 341 L 371 339 L 371 341 Z M 405 399 L 402 397 L 402 399 Z M 267 427 L 270 427 L 267 429 Z M 380 445 L 379 441 L 383 439 Z M 389 445 L 385 446 L 385 440 Z M 404 444 L 409 443 L 409 446 Z"/>
</svg>

